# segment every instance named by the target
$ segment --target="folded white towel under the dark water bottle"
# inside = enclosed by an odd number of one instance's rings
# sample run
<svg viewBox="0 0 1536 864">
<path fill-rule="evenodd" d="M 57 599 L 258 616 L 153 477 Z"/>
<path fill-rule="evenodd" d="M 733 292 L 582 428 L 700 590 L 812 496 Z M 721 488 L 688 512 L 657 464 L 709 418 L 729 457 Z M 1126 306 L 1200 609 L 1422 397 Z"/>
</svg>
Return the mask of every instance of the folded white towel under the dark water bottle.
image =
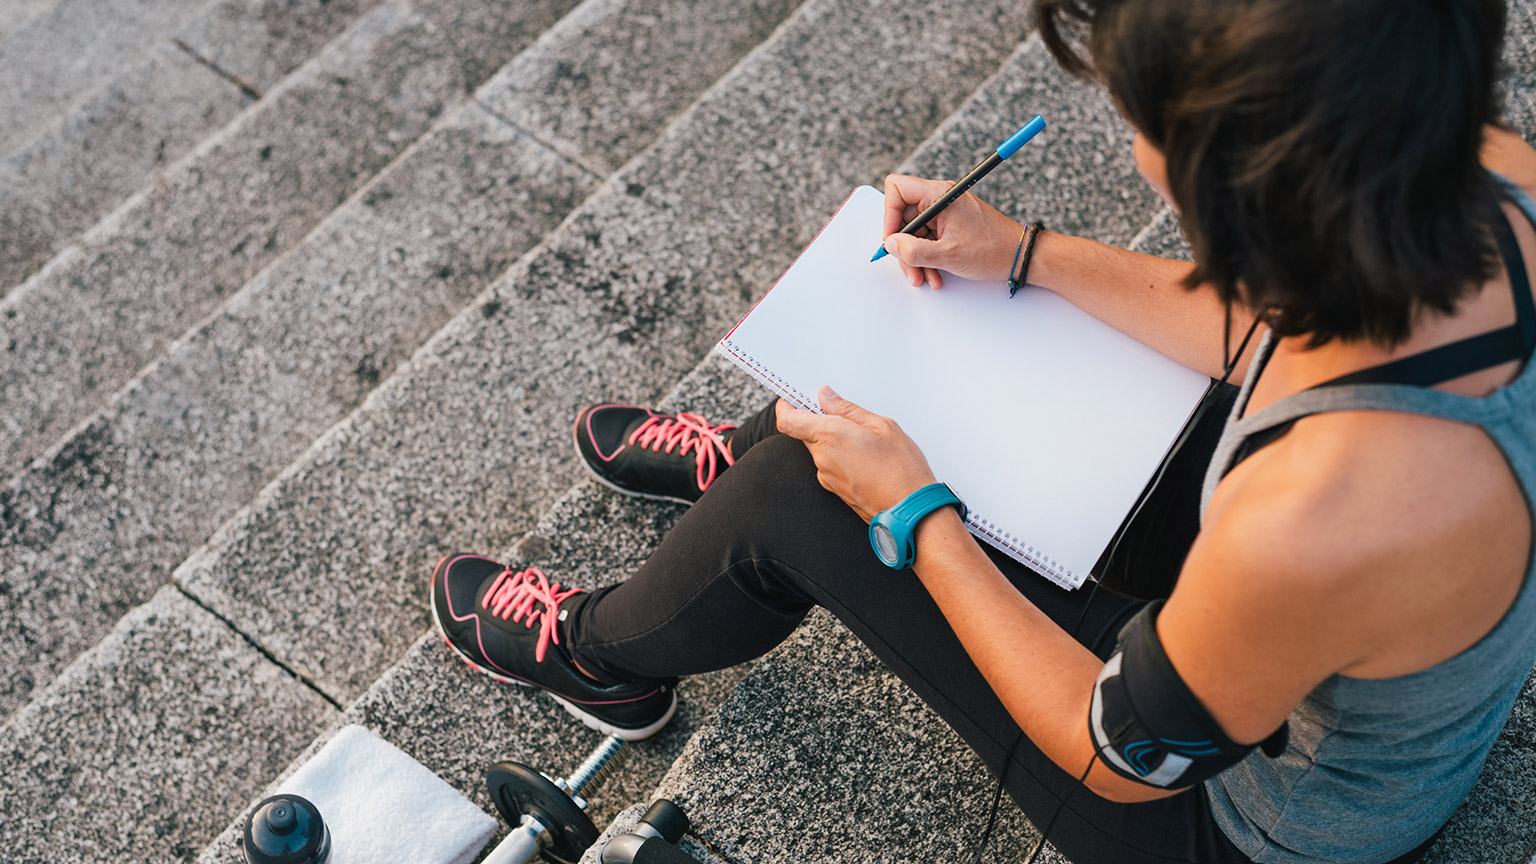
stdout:
<svg viewBox="0 0 1536 864">
<path fill-rule="evenodd" d="M 347 726 L 278 792 L 303 795 L 330 827 L 330 864 L 470 864 L 496 819 L 425 766 Z"/>
</svg>

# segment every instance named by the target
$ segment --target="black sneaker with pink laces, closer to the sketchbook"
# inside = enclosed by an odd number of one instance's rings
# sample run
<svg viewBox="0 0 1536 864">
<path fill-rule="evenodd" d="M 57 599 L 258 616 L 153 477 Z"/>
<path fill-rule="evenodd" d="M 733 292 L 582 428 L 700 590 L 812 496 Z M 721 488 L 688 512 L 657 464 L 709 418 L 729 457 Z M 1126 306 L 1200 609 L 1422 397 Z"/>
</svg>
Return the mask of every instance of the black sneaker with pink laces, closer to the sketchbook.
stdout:
<svg viewBox="0 0 1536 864">
<path fill-rule="evenodd" d="M 730 423 L 599 404 L 576 417 L 576 452 L 604 484 L 627 495 L 693 504 L 731 458 Z"/>
</svg>

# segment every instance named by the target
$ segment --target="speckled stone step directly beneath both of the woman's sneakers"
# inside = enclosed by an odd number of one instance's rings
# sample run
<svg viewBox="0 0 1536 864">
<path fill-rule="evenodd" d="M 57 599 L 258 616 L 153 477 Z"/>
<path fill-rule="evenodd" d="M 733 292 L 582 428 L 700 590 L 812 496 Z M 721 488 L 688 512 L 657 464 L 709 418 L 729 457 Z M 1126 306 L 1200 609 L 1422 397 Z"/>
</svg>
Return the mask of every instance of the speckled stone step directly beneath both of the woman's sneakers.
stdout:
<svg viewBox="0 0 1536 864">
<path fill-rule="evenodd" d="M 762 407 L 763 400 L 765 392 L 756 381 L 713 358 L 685 377 L 659 404 L 674 410 L 710 404 L 722 421 L 739 421 Z M 596 589 L 614 575 L 634 570 L 684 512 L 676 504 L 616 495 L 587 478 L 568 489 L 533 530 L 501 550 L 499 560 L 518 567 L 542 567 L 565 586 Z M 750 669 L 745 664 L 684 680 L 673 721 L 654 738 L 634 746 L 624 769 L 591 795 L 588 815 L 593 821 L 607 824 L 625 806 L 647 799 L 700 723 L 714 713 Z M 510 758 L 544 770 L 554 769 L 551 773 L 558 775 L 601 738 L 539 692 L 505 687 L 468 670 L 436 632 L 418 638 L 399 663 L 352 703 L 346 719 L 327 729 L 283 776 L 301 766 L 344 723 L 369 726 L 490 813 L 495 809 L 485 793 L 484 775 L 492 763 Z M 263 795 L 266 792 L 252 796 L 203 852 L 200 862 L 241 862 L 238 832 Z"/>
</svg>

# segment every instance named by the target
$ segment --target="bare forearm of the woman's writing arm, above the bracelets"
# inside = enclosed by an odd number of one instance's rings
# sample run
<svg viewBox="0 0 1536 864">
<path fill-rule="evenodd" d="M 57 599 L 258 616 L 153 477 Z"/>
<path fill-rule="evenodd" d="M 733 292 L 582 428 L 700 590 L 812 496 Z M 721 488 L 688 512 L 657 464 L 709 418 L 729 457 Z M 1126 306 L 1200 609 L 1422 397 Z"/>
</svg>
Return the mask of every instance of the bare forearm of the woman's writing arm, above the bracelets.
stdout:
<svg viewBox="0 0 1536 864">
<path fill-rule="evenodd" d="M 1224 311 L 1215 291 L 1186 289 L 1193 269 L 1174 261 L 1106 246 L 1068 234 L 1040 235 L 1029 264 L 1029 281 L 1060 294 L 1074 306 L 1111 324 L 1158 354 L 1220 377 Z M 1232 351 L 1253 323 L 1243 307 L 1232 309 Z M 1249 346 L 1249 352 L 1255 346 Z M 1232 380 L 1247 369 L 1238 361 Z"/>
</svg>

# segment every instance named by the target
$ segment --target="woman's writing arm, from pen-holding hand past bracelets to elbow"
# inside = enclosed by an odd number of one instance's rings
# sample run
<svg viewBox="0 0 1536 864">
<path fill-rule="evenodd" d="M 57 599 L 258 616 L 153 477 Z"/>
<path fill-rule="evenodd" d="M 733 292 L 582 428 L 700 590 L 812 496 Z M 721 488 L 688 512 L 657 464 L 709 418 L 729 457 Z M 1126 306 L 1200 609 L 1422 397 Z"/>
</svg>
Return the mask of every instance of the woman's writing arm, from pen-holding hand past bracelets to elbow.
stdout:
<svg viewBox="0 0 1536 864">
<path fill-rule="evenodd" d="M 977 280 L 1008 280 L 1023 228 L 966 192 L 929 223 L 925 237 L 895 234 L 938 198 L 949 183 L 892 174 L 885 181 L 886 251 L 914 286 L 943 286 L 943 274 Z M 1051 289 L 1080 309 L 1172 357 L 1220 377 L 1224 311 L 1215 292 L 1183 286 L 1193 264 L 1143 255 L 1094 240 L 1046 232 L 1035 244 L 1029 281 Z M 1232 311 L 1232 349 L 1253 323 L 1244 309 Z M 1249 346 L 1249 352 L 1256 346 Z M 1240 360 L 1232 380 L 1247 369 Z"/>
</svg>

